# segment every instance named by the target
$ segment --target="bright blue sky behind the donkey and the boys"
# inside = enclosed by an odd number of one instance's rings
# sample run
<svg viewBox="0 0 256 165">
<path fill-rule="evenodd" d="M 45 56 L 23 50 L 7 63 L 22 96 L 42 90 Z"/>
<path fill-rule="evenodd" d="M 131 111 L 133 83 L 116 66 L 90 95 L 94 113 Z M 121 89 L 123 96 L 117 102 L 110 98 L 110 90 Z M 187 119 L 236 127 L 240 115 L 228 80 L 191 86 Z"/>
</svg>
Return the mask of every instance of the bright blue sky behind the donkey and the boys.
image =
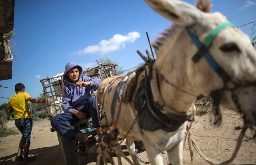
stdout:
<svg viewBox="0 0 256 165">
<path fill-rule="evenodd" d="M 237 26 L 256 20 L 256 0 L 213 0 L 212 3 L 211 12 L 223 13 Z M 38 96 L 42 92 L 39 75 L 44 79 L 62 73 L 68 61 L 91 68 L 100 55 L 106 54 L 124 65 L 124 69 L 135 67 L 142 62 L 136 50 L 150 49 L 146 32 L 152 42 L 169 24 L 169 20 L 142 0 L 16 0 L 14 29 L 20 58 L 13 60 L 13 78 L 0 81 L 8 86 L 4 97 L 15 94 L 17 83 L 23 83 L 31 97 Z M 251 34 L 249 25 L 240 29 Z M 98 45 L 100 42 L 102 45 Z M 104 45 L 112 47 L 105 50 Z M 0 96 L 2 93 L 0 89 Z M 3 102 L 8 99 L 0 98 L 0 104 Z"/>
</svg>

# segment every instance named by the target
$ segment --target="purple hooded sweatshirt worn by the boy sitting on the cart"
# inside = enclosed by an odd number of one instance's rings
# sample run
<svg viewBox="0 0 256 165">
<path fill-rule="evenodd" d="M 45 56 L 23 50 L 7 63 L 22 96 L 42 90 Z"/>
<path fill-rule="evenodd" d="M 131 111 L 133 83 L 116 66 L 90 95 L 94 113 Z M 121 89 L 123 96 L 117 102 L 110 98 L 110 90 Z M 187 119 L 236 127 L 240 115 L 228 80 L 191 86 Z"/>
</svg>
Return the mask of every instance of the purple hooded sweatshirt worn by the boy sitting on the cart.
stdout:
<svg viewBox="0 0 256 165">
<path fill-rule="evenodd" d="M 86 86 L 83 88 L 75 87 L 76 85 L 73 84 L 69 77 L 66 76 L 66 73 L 74 67 L 78 66 L 79 70 L 79 80 L 78 81 L 84 81 L 84 82 L 90 82 L 90 86 Z M 98 89 L 100 83 L 102 82 L 100 78 L 90 78 L 88 76 L 82 77 L 83 69 L 80 65 L 68 62 L 65 66 L 65 72 L 63 74 L 63 80 L 66 81 L 68 84 L 65 85 L 63 88 L 63 98 L 62 98 L 62 104 L 61 108 L 64 112 L 68 112 L 73 114 L 74 110 L 77 110 L 81 108 L 83 105 L 85 105 L 88 98 L 93 97 L 91 95 L 92 89 Z"/>
</svg>

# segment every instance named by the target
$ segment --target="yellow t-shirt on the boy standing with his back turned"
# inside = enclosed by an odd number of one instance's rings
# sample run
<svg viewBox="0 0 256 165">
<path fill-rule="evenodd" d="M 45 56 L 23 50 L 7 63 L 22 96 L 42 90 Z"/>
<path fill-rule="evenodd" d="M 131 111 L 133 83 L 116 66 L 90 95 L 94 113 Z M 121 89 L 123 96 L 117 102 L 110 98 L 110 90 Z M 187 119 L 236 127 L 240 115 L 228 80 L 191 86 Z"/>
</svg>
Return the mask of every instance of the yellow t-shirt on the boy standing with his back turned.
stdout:
<svg viewBox="0 0 256 165">
<path fill-rule="evenodd" d="M 20 118 L 31 117 L 30 109 L 28 108 L 27 99 L 30 96 L 27 92 L 22 92 L 13 95 L 8 101 L 8 107 L 12 107 L 14 110 L 14 120 Z"/>
</svg>

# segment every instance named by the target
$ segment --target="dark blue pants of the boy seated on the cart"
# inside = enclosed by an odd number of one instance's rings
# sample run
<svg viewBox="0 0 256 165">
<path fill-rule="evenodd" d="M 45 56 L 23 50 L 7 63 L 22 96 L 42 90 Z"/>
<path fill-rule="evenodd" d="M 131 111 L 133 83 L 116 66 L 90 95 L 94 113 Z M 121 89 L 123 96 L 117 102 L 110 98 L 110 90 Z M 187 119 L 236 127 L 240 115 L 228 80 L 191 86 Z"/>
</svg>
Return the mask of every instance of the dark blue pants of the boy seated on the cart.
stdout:
<svg viewBox="0 0 256 165">
<path fill-rule="evenodd" d="M 87 99 L 85 105 L 77 110 L 86 113 L 87 117 L 92 117 L 93 127 L 96 128 L 100 126 L 95 97 L 90 97 L 89 99 Z M 59 131 L 64 138 L 71 142 L 71 140 L 74 138 L 73 136 L 78 134 L 79 131 L 72 127 L 70 124 L 75 123 L 79 120 L 80 119 L 78 119 L 76 115 L 73 115 L 71 113 L 61 113 L 55 115 L 52 118 L 51 126 Z"/>
</svg>

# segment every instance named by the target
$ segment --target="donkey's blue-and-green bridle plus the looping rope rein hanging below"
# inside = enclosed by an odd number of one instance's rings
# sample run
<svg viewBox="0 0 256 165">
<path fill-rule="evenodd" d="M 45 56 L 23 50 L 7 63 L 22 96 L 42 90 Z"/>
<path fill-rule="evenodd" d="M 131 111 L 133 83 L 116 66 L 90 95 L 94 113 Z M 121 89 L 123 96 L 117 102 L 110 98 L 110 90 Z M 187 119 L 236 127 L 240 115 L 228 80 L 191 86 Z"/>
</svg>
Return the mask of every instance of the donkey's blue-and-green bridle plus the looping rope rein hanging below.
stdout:
<svg viewBox="0 0 256 165">
<path fill-rule="evenodd" d="M 222 78 L 223 82 L 224 82 L 224 87 L 222 89 L 219 90 L 215 90 L 211 92 L 211 96 L 212 99 L 214 100 L 214 105 L 217 105 L 217 110 L 218 110 L 218 105 L 220 103 L 220 99 L 221 99 L 221 92 L 224 90 L 229 90 L 232 93 L 232 100 L 236 105 L 236 108 L 239 110 L 239 112 L 242 112 L 241 110 L 241 105 L 239 103 L 238 97 L 237 95 L 234 93 L 234 90 L 239 88 L 239 87 L 249 87 L 249 86 L 256 86 L 256 82 L 250 82 L 250 81 L 239 81 L 239 80 L 235 80 L 232 77 L 230 77 L 225 70 L 214 60 L 214 58 L 212 58 L 211 54 L 209 53 L 209 48 L 211 46 L 212 40 L 217 36 L 217 34 L 222 31 L 223 29 L 227 28 L 227 27 L 235 27 L 235 25 L 233 23 L 230 22 L 225 22 L 225 23 L 221 23 L 220 25 L 218 25 L 215 29 L 213 29 L 209 35 L 206 37 L 204 43 L 201 43 L 197 36 L 195 34 L 193 34 L 190 30 L 189 27 L 186 27 L 186 30 L 191 38 L 191 40 L 194 42 L 194 44 L 197 46 L 197 48 L 199 49 L 198 52 L 193 56 L 192 60 L 193 62 L 197 63 L 202 57 L 205 57 L 205 59 L 207 60 L 207 62 L 210 64 L 210 66 L 215 70 L 215 72 Z M 195 113 L 193 115 L 193 120 L 191 122 L 190 127 L 187 126 L 187 134 L 185 137 L 185 142 L 186 139 L 188 137 L 188 144 L 189 144 L 189 150 L 190 150 L 190 156 L 191 156 L 191 162 L 192 164 L 195 162 L 194 156 L 193 156 L 193 149 L 192 149 L 192 145 L 194 146 L 195 150 L 197 151 L 198 155 L 200 158 L 204 159 L 206 162 L 208 162 L 211 165 L 226 165 L 231 163 L 234 158 L 236 157 L 239 148 L 242 144 L 242 140 L 244 137 L 244 134 L 249 126 L 249 122 L 245 120 L 244 117 L 244 124 L 243 124 L 243 129 L 240 133 L 240 136 L 238 138 L 238 142 L 237 142 L 237 146 L 236 149 L 234 150 L 231 158 L 229 160 L 223 161 L 221 163 L 216 163 L 216 162 L 212 162 L 210 161 L 199 149 L 199 147 L 196 145 L 196 143 L 193 141 L 193 139 L 191 139 L 191 127 L 193 125 L 193 122 L 195 121 Z M 185 146 L 185 145 L 184 145 Z M 183 146 L 183 149 L 184 149 Z"/>
</svg>

